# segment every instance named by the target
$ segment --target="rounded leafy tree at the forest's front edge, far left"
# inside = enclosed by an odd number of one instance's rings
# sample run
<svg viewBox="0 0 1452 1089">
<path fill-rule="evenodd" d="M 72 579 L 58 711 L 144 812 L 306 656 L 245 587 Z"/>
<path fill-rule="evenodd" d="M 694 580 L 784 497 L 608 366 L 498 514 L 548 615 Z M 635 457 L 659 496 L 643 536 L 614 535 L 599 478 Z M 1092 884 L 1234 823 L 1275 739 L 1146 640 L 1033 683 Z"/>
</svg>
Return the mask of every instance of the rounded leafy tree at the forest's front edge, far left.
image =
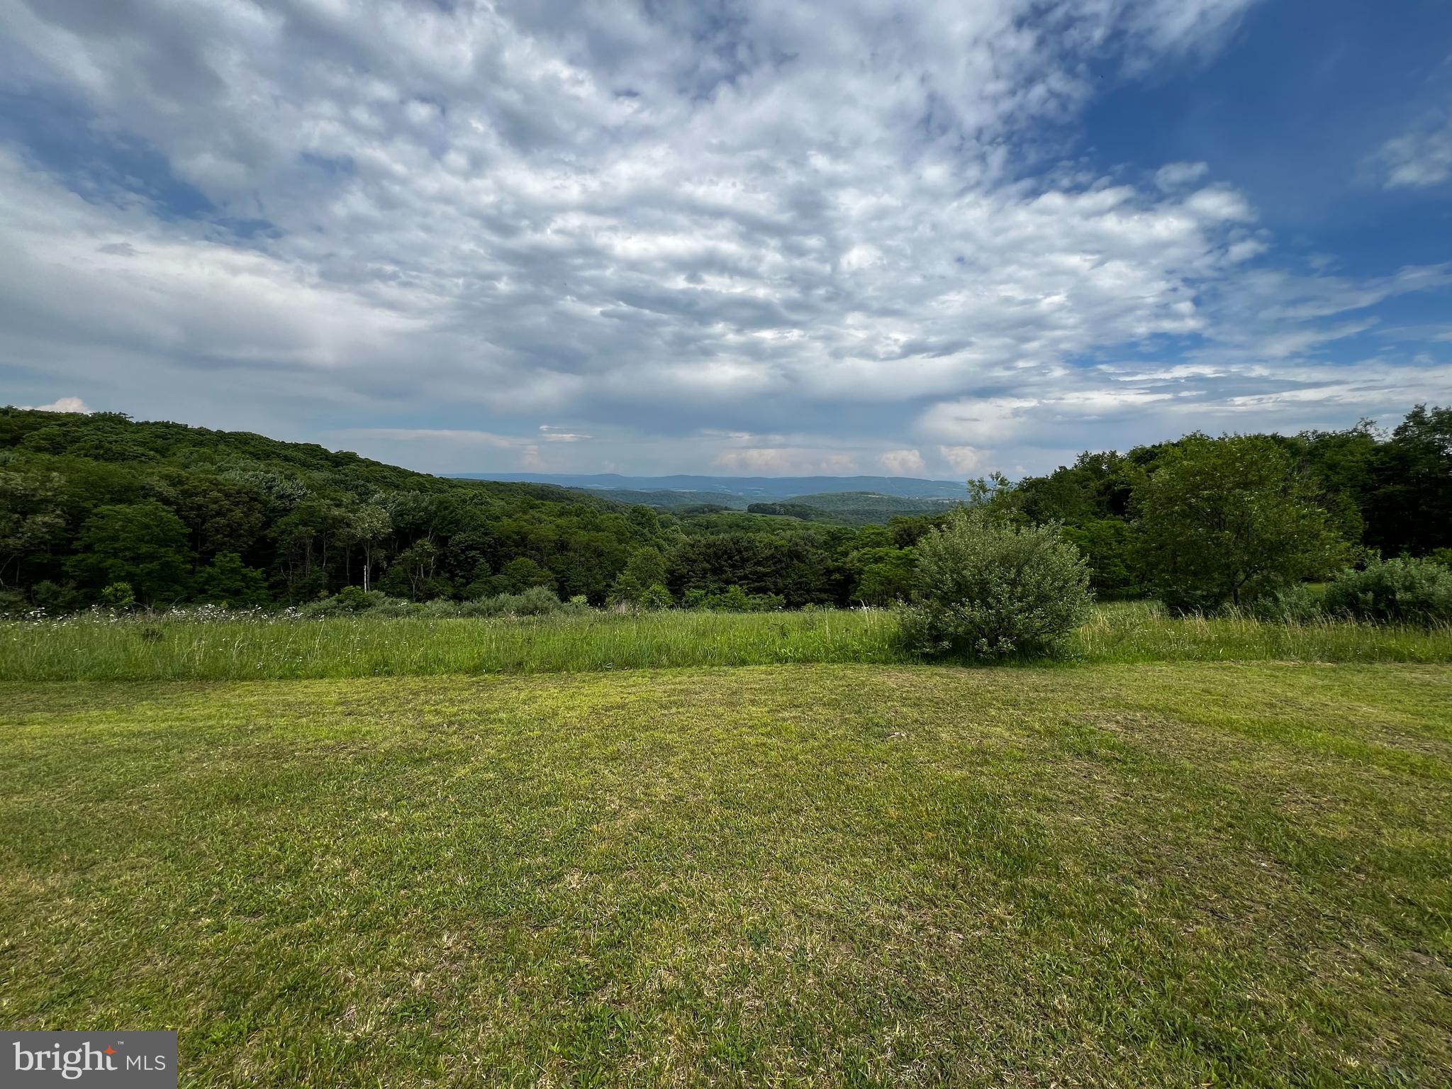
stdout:
<svg viewBox="0 0 1452 1089">
<path fill-rule="evenodd" d="M 154 499 L 97 508 L 81 527 L 77 547 L 67 566 L 84 585 L 128 582 L 147 605 L 186 594 L 187 529 Z"/>
</svg>

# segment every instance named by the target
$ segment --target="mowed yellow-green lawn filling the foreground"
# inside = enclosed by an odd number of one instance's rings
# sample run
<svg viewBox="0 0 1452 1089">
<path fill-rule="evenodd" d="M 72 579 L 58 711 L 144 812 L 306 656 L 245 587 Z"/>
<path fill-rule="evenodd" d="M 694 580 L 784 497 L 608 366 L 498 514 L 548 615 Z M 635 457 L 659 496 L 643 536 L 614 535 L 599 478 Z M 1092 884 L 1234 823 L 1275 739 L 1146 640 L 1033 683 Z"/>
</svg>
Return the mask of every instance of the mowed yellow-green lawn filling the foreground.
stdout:
<svg viewBox="0 0 1452 1089">
<path fill-rule="evenodd" d="M 0 685 L 0 1024 L 183 1085 L 1452 1083 L 1452 669 Z"/>
</svg>

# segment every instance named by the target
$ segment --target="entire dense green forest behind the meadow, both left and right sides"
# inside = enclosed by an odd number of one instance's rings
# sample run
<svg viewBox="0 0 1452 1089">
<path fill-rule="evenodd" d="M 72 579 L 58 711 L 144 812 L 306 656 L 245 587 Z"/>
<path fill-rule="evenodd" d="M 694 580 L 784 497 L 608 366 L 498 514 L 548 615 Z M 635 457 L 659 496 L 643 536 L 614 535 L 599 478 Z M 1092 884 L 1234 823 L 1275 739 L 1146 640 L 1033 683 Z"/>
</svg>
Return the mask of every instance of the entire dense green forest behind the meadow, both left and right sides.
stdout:
<svg viewBox="0 0 1452 1089">
<path fill-rule="evenodd" d="M 1101 597 L 1195 587 L 1240 601 L 1278 578 L 1452 546 L 1452 408 L 1390 431 L 1188 436 L 1085 453 L 964 501 L 1059 524 Z M 947 514 L 854 526 L 822 507 L 627 505 L 552 485 L 450 479 L 247 433 L 0 409 L 0 608 L 303 604 L 347 587 L 475 600 L 536 587 L 590 604 L 887 604 Z M 800 508 L 800 510 L 799 510 Z M 1166 572 L 1178 575 L 1166 579 Z M 119 590 L 122 588 L 123 590 Z"/>
</svg>

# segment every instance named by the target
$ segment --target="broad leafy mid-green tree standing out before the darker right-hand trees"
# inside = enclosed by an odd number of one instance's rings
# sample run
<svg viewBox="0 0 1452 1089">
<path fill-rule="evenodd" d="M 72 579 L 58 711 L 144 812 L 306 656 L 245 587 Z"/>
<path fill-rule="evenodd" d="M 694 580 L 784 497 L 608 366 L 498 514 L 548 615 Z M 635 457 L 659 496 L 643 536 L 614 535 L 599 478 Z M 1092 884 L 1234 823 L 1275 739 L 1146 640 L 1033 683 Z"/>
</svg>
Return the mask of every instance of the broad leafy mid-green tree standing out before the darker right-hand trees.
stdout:
<svg viewBox="0 0 1452 1089">
<path fill-rule="evenodd" d="M 1141 556 L 1178 610 L 1246 604 L 1346 562 L 1316 482 L 1266 436 L 1189 436 L 1135 488 Z"/>
</svg>

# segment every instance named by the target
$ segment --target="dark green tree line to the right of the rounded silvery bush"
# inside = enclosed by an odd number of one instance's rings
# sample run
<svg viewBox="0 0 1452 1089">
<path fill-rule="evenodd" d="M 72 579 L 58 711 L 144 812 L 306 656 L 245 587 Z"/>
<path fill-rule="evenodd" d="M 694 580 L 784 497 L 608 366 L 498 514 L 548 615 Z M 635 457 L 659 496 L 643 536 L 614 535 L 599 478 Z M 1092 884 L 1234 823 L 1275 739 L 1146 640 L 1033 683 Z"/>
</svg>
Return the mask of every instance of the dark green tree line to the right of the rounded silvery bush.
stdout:
<svg viewBox="0 0 1452 1089">
<path fill-rule="evenodd" d="M 1059 524 L 1101 598 L 1246 605 L 1369 559 L 1452 560 L 1452 408 L 1417 405 L 1390 431 L 1363 420 L 1298 436 L 1195 433 L 970 491 L 1012 521 Z"/>
</svg>

